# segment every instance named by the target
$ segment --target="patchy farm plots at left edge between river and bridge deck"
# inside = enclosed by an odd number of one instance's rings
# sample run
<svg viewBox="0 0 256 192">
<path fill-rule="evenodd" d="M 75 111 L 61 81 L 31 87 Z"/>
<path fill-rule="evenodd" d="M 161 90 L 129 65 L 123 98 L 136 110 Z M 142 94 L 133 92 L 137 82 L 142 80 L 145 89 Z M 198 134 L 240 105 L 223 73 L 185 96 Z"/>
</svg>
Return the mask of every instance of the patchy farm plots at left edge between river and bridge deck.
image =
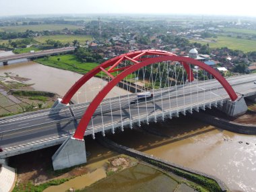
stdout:
<svg viewBox="0 0 256 192">
<path fill-rule="evenodd" d="M 51 108 L 59 98 L 54 93 L 34 91 L 28 80 L 11 72 L 0 76 L 0 117 Z"/>
</svg>

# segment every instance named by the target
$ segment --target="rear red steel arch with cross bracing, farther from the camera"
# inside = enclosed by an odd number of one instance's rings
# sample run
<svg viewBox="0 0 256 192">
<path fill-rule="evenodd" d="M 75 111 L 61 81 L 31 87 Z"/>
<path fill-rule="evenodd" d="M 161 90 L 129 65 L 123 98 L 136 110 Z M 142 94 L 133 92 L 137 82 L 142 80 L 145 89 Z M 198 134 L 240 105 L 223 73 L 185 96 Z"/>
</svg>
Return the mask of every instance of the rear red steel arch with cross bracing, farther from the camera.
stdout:
<svg viewBox="0 0 256 192">
<path fill-rule="evenodd" d="M 147 58 L 147 57 L 143 57 L 143 56 L 163 57 L 163 56 L 167 56 L 167 55 L 175 55 L 175 54 L 170 53 L 168 51 L 148 49 L 148 50 L 133 51 L 130 53 L 125 53 L 123 55 L 119 55 L 118 57 L 115 57 L 108 61 L 105 61 L 104 63 L 102 63 L 102 64 L 98 65 L 97 67 L 95 67 L 94 69 L 92 69 L 92 71 L 89 71 L 88 73 L 86 73 L 77 82 L 75 82 L 75 84 L 73 84 L 73 86 L 65 94 L 65 96 L 63 97 L 61 102 L 63 104 L 69 103 L 69 101 L 71 100 L 71 98 L 73 97 L 75 92 L 77 92 L 77 90 L 79 90 L 79 88 L 81 88 L 84 84 L 86 84 L 86 82 L 88 82 L 89 79 L 94 77 L 94 75 L 96 75 L 100 71 L 104 71 L 104 73 L 106 73 L 111 78 L 113 78 L 113 75 L 111 75 L 110 73 L 113 73 L 115 71 L 121 71 L 121 70 L 125 69 L 124 67 L 120 68 L 120 69 L 115 69 L 115 67 L 117 67 L 117 65 L 119 65 L 119 63 L 121 63 L 122 61 L 127 60 L 127 61 L 131 61 L 134 64 L 137 64 L 140 61 L 146 61 L 146 60 L 150 59 L 149 57 Z M 177 55 L 175 55 L 175 56 L 177 56 Z M 141 57 L 143 57 L 143 58 L 141 58 Z M 189 65 L 187 65 L 187 63 L 183 63 L 183 65 L 184 65 L 185 70 L 187 71 L 189 82 L 193 82 L 194 77 L 193 77 L 192 70 L 190 69 Z"/>
</svg>

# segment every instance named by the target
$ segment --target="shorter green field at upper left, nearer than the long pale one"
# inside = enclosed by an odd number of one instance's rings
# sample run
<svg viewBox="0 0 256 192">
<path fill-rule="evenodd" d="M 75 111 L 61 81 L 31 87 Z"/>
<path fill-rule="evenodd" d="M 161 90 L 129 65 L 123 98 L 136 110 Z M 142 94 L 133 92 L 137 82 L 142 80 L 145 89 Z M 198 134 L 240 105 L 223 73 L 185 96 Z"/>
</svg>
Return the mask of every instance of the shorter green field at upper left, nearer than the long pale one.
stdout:
<svg viewBox="0 0 256 192">
<path fill-rule="evenodd" d="M 34 40 L 44 43 L 46 40 L 53 39 L 53 40 L 59 40 L 60 42 L 72 43 L 73 40 L 78 40 L 81 44 L 85 44 L 86 40 L 92 40 L 92 36 L 89 35 L 54 35 L 54 36 L 40 36 L 34 38 Z"/>
</svg>

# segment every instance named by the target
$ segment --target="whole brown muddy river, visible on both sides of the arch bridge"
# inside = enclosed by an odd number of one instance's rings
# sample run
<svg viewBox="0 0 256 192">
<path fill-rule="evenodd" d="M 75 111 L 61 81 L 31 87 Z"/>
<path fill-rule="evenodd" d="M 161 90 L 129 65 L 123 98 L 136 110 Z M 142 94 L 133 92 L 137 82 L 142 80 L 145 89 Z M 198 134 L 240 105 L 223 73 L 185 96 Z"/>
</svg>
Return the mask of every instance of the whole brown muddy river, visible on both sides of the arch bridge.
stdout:
<svg viewBox="0 0 256 192">
<path fill-rule="evenodd" d="M 0 75 L 5 72 L 30 78 L 26 83 L 34 84 L 33 88 L 36 90 L 57 92 L 61 96 L 81 77 L 71 71 L 33 62 L 0 67 Z M 79 90 L 80 94 L 75 95 L 73 100 L 92 100 L 102 84 L 104 82 L 101 79 L 95 78 L 88 87 Z M 117 96 L 120 92 L 126 93 L 116 88 L 109 96 Z M 160 137 L 141 129 L 125 129 L 124 132 L 108 137 L 124 146 L 212 174 L 224 181 L 231 191 L 256 191 L 255 135 L 231 133 L 183 116 L 168 120 L 164 124 L 151 123 L 150 127 L 158 129 L 168 137 Z M 94 141 L 86 143 L 86 150 L 92 152 L 92 156 L 95 157 L 112 153 L 106 148 L 99 147 Z M 92 156 L 88 158 L 88 163 Z M 109 156 L 106 155 L 105 158 Z"/>
</svg>

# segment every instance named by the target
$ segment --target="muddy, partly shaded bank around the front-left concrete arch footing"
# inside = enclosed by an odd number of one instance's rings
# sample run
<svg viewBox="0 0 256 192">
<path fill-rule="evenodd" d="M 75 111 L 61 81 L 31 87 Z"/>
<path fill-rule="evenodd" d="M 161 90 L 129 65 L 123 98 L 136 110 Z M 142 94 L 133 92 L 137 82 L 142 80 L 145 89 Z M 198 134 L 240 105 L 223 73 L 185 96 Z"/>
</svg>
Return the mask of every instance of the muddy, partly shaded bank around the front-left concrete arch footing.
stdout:
<svg viewBox="0 0 256 192">
<path fill-rule="evenodd" d="M 51 156 L 59 146 L 9 158 L 9 165 L 15 167 L 18 174 L 14 191 L 43 191 L 51 185 L 58 186 L 50 187 L 47 191 L 67 191 L 71 187 L 82 189 L 107 175 L 137 164 L 134 158 L 108 150 L 91 137 L 86 138 L 86 147 L 90 149 L 86 164 L 58 171 L 53 170 Z"/>
</svg>

